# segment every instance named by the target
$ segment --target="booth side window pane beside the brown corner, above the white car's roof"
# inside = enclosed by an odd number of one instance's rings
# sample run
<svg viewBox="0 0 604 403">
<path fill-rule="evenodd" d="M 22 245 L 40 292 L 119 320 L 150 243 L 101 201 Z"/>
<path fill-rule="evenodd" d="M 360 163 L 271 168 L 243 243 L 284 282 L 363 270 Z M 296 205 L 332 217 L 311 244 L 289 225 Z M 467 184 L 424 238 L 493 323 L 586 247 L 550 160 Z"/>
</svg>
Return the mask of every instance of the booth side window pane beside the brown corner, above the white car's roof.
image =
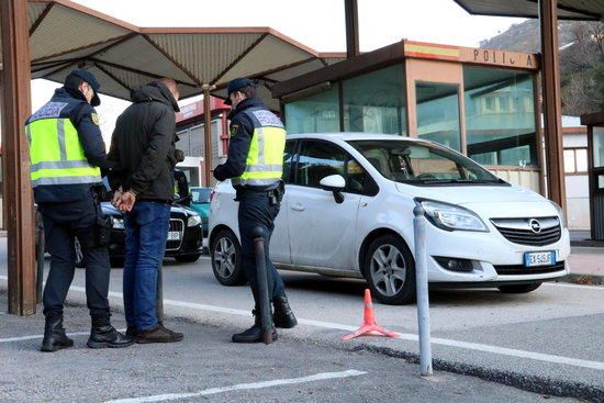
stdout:
<svg viewBox="0 0 604 403">
<path fill-rule="evenodd" d="M 406 135 L 402 65 L 342 82 L 344 131 Z"/>
</svg>

